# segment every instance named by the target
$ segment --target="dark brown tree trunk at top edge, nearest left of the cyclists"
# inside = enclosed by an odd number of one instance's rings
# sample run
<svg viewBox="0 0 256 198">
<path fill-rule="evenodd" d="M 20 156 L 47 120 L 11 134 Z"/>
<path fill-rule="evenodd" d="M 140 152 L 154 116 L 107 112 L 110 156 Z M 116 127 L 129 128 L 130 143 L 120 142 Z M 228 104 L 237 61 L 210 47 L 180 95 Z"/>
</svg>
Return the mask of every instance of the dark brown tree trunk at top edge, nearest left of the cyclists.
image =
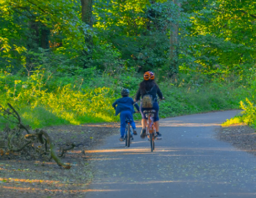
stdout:
<svg viewBox="0 0 256 198">
<path fill-rule="evenodd" d="M 80 0 L 81 6 L 82 6 L 82 21 L 89 25 L 89 27 L 93 28 L 93 0 Z M 93 38 L 91 35 L 86 34 L 85 35 L 85 41 L 88 50 L 84 53 L 87 56 L 87 60 L 90 60 L 93 58 Z"/>
</svg>

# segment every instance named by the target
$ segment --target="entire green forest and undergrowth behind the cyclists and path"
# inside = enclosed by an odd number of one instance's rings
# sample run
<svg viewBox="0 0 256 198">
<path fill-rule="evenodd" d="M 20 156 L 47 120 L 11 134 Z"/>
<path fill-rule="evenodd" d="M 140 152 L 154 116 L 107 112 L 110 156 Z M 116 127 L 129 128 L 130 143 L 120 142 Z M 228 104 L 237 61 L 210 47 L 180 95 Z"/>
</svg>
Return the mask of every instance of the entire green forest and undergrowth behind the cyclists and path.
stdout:
<svg viewBox="0 0 256 198">
<path fill-rule="evenodd" d="M 161 117 L 241 107 L 229 122 L 255 126 L 255 6 L 0 0 L 0 104 L 32 128 L 113 122 L 111 103 L 122 88 L 134 97 L 150 70 L 166 98 Z"/>
</svg>

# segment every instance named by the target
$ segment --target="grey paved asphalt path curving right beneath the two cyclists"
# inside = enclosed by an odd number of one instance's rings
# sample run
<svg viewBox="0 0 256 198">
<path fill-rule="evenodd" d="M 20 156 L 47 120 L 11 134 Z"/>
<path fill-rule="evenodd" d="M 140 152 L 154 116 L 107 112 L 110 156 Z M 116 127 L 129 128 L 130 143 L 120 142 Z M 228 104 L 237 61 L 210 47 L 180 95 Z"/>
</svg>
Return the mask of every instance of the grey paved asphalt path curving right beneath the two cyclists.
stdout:
<svg viewBox="0 0 256 198">
<path fill-rule="evenodd" d="M 163 119 L 163 140 L 153 153 L 139 135 L 130 148 L 109 137 L 93 151 L 95 177 L 86 198 L 256 197 L 256 157 L 215 138 L 238 112 Z"/>
</svg>

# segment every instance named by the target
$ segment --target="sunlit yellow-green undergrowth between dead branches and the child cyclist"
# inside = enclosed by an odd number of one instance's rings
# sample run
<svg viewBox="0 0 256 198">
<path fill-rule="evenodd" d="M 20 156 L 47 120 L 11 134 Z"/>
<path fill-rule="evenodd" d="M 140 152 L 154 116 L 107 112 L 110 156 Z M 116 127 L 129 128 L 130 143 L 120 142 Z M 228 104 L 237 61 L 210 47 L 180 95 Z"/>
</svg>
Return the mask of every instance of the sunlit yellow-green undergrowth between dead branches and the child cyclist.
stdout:
<svg viewBox="0 0 256 198">
<path fill-rule="evenodd" d="M 115 98 L 110 88 L 87 87 L 83 81 L 79 87 L 77 82 L 56 85 L 63 79 L 49 78 L 44 72 L 37 71 L 27 78 L 15 76 L 19 80 L 1 73 L 1 82 L 5 82 L 1 83 L 1 104 L 10 102 L 32 127 L 115 120 L 111 108 Z"/>
</svg>

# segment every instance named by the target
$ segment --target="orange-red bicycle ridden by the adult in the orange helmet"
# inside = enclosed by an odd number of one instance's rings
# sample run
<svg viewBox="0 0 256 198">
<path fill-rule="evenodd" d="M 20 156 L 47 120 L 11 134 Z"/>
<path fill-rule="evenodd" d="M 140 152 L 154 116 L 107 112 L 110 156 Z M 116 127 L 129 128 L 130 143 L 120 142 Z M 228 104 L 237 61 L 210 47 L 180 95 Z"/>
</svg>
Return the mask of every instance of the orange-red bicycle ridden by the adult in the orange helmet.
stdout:
<svg viewBox="0 0 256 198">
<path fill-rule="evenodd" d="M 150 146 L 151 146 L 151 152 L 155 149 L 155 138 L 156 138 L 156 129 L 154 126 L 154 113 L 156 113 L 155 110 L 146 110 L 143 111 L 145 113 L 146 118 L 148 118 L 148 127 L 146 127 L 146 135 L 148 137 L 148 140 L 150 140 Z"/>
</svg>

